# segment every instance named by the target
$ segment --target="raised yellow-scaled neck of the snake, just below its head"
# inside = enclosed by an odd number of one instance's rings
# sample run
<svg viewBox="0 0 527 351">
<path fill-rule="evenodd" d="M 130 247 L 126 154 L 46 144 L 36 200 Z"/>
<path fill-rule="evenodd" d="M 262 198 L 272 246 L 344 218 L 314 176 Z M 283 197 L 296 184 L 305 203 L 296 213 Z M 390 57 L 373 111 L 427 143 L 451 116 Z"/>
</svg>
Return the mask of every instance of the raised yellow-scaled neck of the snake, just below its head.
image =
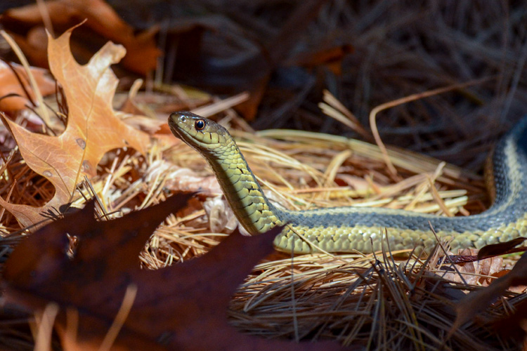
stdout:
<svg viewBox="0 0 527 351">
<path fill-rule="evenodd" d="M 232 137 L 202 155 L 212 167 L 230 208 L 249 234 L 266 232 L 280 223 L 278 210 L 263 194 Z"/>
</svg>

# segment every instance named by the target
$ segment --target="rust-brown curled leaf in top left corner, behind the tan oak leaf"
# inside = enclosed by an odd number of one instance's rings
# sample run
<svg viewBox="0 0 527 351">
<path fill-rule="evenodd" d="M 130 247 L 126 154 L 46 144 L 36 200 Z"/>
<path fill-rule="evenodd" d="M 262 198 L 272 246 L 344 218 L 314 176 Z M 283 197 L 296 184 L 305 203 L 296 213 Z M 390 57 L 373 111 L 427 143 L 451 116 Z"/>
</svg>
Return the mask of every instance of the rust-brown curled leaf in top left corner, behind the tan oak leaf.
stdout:
<svg viewBox="0 0 527 351">
<path fill-rule="evenodd" d="M 86 26 L 94 32 L 110 39 L 126 48 L 126 56 L 122 65 L 138 74 L 146 74 L 157 65 L 161 51 L 155 46 L 154 35 L 157 28 L 152 28 L 141 34 L 134 34 L 130 27 L 111 6 L 103 0 L 55 0 L 46 1 L 50 20 L 55 27 L 71 27 L 86 19 Z M 38 4 L 22 6 L 6 11 L 2 22 L 18 22 L 25 25 L 41 27 L 43 20 Z M 15 25 L 13 25 L 15 27 Z M 32 56 L 38 57 L 39 45 L 30 37 L 14 36 L 23 48 L 29 48 Z M 35 45 L 37 44 L 37 45 Z M 41 50 L 40 50 L 41 51 Z M 45 56 L 44 52 L 41 57 Z"/>
</svg>

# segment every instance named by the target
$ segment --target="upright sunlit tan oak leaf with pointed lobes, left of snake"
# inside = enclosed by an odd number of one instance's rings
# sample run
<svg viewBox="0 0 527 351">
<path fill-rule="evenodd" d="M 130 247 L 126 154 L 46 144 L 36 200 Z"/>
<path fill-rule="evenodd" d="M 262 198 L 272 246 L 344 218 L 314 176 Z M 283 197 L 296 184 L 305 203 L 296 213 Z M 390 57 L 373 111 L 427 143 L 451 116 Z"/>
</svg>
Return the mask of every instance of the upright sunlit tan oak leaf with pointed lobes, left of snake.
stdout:
<svg viewBox="0 0 527 351">
<path fill-rule="evenodd" d="M 9 204 L 0 198 L 0 206 L 13 213 L 24 227 L 41 223 L 44 214 L 57 213 L 67 204 L 84 176 L 96 174 L 96 166 L 106 152 L 133 147 L 144 154 L 150 143 L 147 134 L 124 124 L 112 108 L 117 77 L 110 65 L 124 56 L 124 48 L 108 42 L 88 64 L 79 65 L 70 52 L 72 29 L 58 39 L 48 38 L 51 73 L 63 86 L 68 105 L 65 131 L 58 137 L 31 133 L 1 117 L 27 166 L 55 187 L 53 198 L 41 207 Z"/>
</svg>

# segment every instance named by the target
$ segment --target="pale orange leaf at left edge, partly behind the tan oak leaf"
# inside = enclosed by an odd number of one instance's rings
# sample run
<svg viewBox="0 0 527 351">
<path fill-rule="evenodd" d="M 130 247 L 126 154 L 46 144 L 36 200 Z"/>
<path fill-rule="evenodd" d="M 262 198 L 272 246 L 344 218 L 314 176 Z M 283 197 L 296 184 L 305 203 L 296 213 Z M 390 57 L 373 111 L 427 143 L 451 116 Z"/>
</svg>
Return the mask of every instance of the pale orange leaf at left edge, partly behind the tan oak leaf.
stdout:
<svg viewBox="0 0 527 351">
<path fill-rule="evenodd" d="M 30 80 L 27 77 L 24 67 L 16 63 L 11 63 L 11 67 L 13 67 L 16 74 L 18 74 L 20 81 L 17 79 L 13 69 L 11 69 L 6 62 L 0 60 L 1 111 L 16 111 L 25 109 L 25 105 L 28 104 L 25 91 L 27 91 L 27 93 L 30 95 L 31 100 L 34 101 L 35 98 L 30 86 Z M 30 67 L 30 69 L 35 81 L 37 81 L 37 86 L 39 87 L 40 93 L 43 96 L 55 92 L 55 81 L 49 77 L 46 77 L 46 69 L 41 69 L 38 67 Z M 23 84 L 23 87 L 21 84 Z M 13 96 L 6 97 L 6 95 L 9 94 L 13 94 Z"/>
</svg>

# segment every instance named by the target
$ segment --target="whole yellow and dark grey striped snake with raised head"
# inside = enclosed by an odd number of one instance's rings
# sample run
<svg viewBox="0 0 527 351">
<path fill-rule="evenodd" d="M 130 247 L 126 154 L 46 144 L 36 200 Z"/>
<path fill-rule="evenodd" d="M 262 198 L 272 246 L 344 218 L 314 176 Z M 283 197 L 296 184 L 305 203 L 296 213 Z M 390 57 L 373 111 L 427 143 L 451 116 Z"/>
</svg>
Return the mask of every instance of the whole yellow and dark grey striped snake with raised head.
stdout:
<svg viewBox="0 0 527 351">
<path fill-rule="evenodd" d="M 236 218 L 249 234 L 285 225 L 274 241 L 280 251 L 370 253 L 383 246 L 392 251 L 429 251 L 436 244 L 430 225 L 438 237 L 451 240 L 453 250 L 481 248 L 527 232 L 527 119 L 494 148 L 493 206 L 473 216 L 450 218 L 389 208 L 281 209 L 263 194 L 226 128 L 190 112 L 174 112 L 169 126 L 176 137 L 207 159 Z"/>
</svg>

